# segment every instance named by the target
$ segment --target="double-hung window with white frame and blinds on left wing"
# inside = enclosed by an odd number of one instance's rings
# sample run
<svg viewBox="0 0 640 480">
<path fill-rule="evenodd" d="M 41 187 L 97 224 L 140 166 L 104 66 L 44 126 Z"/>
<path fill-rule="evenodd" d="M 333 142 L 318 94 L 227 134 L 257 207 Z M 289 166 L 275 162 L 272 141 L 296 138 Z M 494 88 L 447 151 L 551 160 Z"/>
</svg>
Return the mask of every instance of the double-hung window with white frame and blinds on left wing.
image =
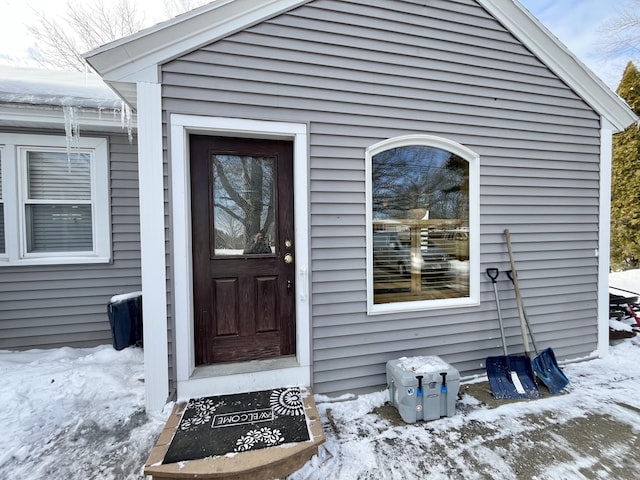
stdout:
<svg viewBox="0 0 640 480">
<path fill-rule="evenodd" d="M 0 134 L 0 265 L 110 260 L 107 141 Z"/>
</svg>

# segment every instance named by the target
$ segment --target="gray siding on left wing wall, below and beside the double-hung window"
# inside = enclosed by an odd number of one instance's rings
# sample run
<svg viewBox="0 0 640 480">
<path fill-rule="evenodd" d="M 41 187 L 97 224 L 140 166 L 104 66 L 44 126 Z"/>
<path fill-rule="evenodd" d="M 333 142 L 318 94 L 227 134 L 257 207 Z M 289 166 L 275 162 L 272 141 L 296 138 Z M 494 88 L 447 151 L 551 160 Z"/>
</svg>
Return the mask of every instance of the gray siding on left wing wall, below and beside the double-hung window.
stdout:
<svg viewBox="0 0 640 480">
<path fill-rule="evenodd" d="M 109 155 L 112 263 L 0 268 L 0 349 L 111 343 L 109 299 L 141 281 L 137 144 L 111 135 Z"/>
</svg>

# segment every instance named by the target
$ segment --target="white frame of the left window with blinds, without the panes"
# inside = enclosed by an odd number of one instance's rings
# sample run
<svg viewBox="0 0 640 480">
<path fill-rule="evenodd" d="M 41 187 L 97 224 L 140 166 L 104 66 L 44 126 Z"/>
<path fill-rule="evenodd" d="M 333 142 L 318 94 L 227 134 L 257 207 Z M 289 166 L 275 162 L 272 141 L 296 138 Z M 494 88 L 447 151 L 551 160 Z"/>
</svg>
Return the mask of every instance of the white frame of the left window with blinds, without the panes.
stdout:
<svg viewBox="0 0 640 480">
<path fill-rule="evenodd" d="M 64 136 L 0 133 L 5 253 L 3 265 L 64 265 L 111 261 L 109 161 L 106 138 L 81 137 L 70 142 Z M 26 152 L 79 149 L 91 153 L 91 216 L 93 249 L 86 252 L 27 252 L 25 219 Z"/>
</svg>

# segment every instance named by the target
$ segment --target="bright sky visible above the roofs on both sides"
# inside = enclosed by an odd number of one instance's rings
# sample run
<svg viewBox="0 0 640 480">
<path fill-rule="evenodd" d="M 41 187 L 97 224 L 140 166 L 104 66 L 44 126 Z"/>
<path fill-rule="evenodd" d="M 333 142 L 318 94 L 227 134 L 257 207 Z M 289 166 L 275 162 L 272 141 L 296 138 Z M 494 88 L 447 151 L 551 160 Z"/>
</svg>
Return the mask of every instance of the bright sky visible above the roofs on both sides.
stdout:
<svg viewBox="0 0 640 480">
<path fill-rule="evenodd" d="M 628 58 L 603 59 L 599 55 L 602 23 L 615 16 L 628 0 L 521 0 L 554 35 L 591 68 L 609 87 L 618 86 Z M 157 23 L 163 18 L 163 0 L 138 0 L 146 18 Z M 0 0 L 0 64 L 23 66 L 29 62 L 29 48 L 34 40 L 27 25 L 33 24 L 33 11 L 55 14 L 63 0 Z"/>
</svg>

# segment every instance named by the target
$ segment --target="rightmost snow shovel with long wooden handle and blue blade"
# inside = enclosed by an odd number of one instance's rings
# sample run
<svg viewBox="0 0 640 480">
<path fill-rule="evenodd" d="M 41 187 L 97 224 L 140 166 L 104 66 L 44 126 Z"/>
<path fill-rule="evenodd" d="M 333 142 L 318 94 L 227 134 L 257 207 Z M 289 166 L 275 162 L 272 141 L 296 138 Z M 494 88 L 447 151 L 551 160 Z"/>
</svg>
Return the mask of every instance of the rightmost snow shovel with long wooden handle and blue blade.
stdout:
<svg viewBox="0 0 640 480">
<path fill-rule="evenodd" d="M 530 353 L 528 351 L 528 342 L 526 341 L 527 332 L 524 327 L 524 324 L 526 323 L 526 327 L 529 330 L 529 335 L 531 335 L 531 343 L 533 343 L 533 348 L 536 352 L 536 356 L 531 360 L 533 369 L 535 370 L 536 375 L 542 381 L 542 383 L 547 386 L 549 392 L 551 392 L 552 395 L 555 395 L 556 393 L 559 393 L 561 390 L 563 390 L 567 385 L 569 385 L 569 379 L 560 369 L 560 366 L 556 361 L 556 355 L 553 352 L 553 349 L 549 347 L 538 353 L 538 347 L 536 346 L 535 340 L 533 339 L 533 331 L 531 330 L 531 325 L 529 324 L 527 314 L 524 311 L 524 303 L 522 302 L 522 296 L 520 295 L 520 287 L 518 286 L 518 276 L 516 272 L 516 263 L 513 259 L 513 251 L 511 250 L 511 234 L 509 233 L 508 229 L 504 231 L 504 236 L 507 239 L 507 250 L 509 250 L 509 260 L 511 261 L 511 271 L 507 272 L 507 276 L 511 279 L 511 283 L 513 283 L 513 288 L 516 292 L 518 314 L 520 315 L 520 328 L 522 329 L 522 338 L 525 341 L 525 352 L 530 356 Z"/>
</svg>

